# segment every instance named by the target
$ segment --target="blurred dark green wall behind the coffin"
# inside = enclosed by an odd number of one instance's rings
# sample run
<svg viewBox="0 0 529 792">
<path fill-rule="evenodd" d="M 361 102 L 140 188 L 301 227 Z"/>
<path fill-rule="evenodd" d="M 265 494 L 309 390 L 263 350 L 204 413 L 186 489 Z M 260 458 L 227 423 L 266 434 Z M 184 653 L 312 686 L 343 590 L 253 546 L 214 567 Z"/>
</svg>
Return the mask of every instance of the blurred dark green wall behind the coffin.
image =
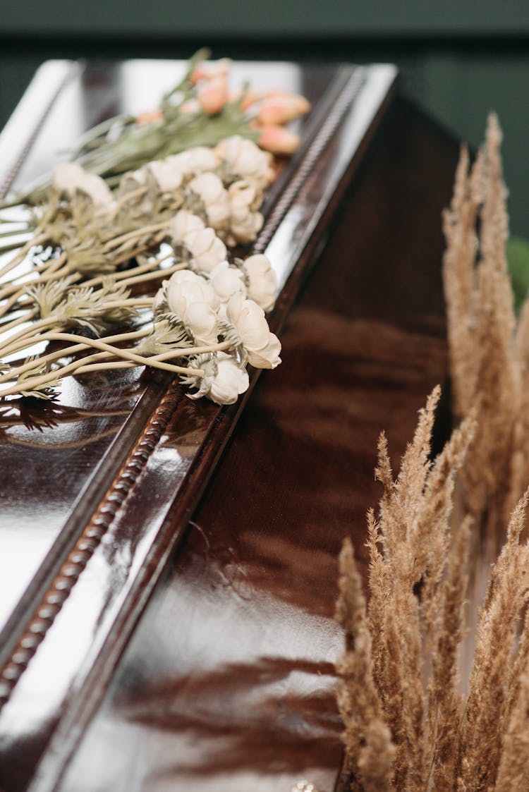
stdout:
<svg viewBox="0 0 529 792">
<path fill-rule="evenodd" d="M 477 146 L 504 129 L 512 234 L 529 238 L 527 0 L 2 0 L 0 127 L 50 58 L 392 62 L 402 90 Z"/>
</svg>

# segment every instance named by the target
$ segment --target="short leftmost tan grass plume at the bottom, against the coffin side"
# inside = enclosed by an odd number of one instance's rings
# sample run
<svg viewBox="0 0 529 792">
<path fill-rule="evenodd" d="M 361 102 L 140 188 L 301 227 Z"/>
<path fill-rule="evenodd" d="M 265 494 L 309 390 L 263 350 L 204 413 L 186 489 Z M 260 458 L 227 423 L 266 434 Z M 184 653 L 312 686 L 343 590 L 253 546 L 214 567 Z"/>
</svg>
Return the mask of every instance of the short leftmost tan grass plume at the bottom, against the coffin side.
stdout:
<svg viewBox="0 0 529 792">
<path fill-rule="evenodd" d="M 341 676 L 338 704 L 344 742 L 353 783 L 359 790 L 377 792 L 390 784 L 394 745 L 373 681 L 366 601 L 349 539 L 344 540 L 340 554 L 339 588 L 336 619 L 344 628 L 345 653 L 337 665 Z"/>
</svg>

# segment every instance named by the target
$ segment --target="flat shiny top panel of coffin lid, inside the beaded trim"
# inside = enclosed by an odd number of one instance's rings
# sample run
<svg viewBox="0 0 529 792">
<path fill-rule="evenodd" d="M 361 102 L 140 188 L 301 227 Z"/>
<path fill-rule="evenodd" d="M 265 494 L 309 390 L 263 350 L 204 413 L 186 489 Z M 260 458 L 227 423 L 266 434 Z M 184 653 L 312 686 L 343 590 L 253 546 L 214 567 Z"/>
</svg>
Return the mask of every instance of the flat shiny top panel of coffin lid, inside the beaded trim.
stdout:
<svg viewBox="0 0 529 792">
<path fill-rule="evenodd" d="M 91 64 L 84 69 L 75 63 L 47 64 L 46 74 L 40 75 L 44 80 L 31 93 L 27 107 L 18 111 L 12 134 L 8 128 L 0 139 L 0 185 L 4 185 L 0 197 L 13 176 L 14 185 L 32 181 L 63 156 L 58 150 L 67 150 L 83 129 L 101 117 L 150 107 L 153 93 L 162 95 L 183 69 L 182 63 L 170 62 Z M 261 86 L 277 80 L 302 90 L 307 82 L 315 109 L 303 123 L 303 158 L 314 139 L 311 127 L 318 122 L 325 92 L 332 93 L 336 70 L 304 73 L 295 64 L 272 63 L 239 64 L 236 73 L 238 82 L 249 78 Z M 291 162 L 268 195 L 268 215 L 295 168 L 296 162 Z M 286 269 L 295 263 L 292 257 L 284 258 Z M 89 375 L 68 379 L 59 402 L 51 406 L 31 400 L 21 409 L 16 402 L 0 406 L 0 665 L 17 623 L 49 584 L 104 497 L 168 383 L 168 378 L 149 373 L 140 379 L 137 371 L 124 376 Z M 202 423 L 206 431 L 207 421 Z M 0 697 L 1 687 L 0 681 Z"/>
</svg>

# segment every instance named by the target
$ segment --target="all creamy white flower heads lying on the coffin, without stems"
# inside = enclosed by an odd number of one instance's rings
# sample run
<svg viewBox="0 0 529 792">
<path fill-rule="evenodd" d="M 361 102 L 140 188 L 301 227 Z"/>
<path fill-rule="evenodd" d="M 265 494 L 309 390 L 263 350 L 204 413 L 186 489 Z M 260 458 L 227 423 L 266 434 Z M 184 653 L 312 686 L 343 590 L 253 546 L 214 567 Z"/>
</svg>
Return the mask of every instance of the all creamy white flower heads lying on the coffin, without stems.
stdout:
<svg viewBox="0 0 529 792">
<path fill-rule="evenodd" d="M 94 211 L 108 217 L 126 207 L 138 233 L 154 226 L 160 233 L 162 226 L 175 264 L 185 268 L 163 281 L 154 322 L 182 327 L 196 349 L 189 367 L 204 371 L 204 377 L 185 382 L 195 396 L 219 404 L 234 402 L 246 390 L 247 364 L 280 364 L 280 341 L 265 318 L 275 303 L 276 274 L 264 255 L 230 261 L 226 247 L 252 242 L 261 230 L 270 165 L 270 155 L 255 143 L 233 137 L 215 149 L 190 149 L 126 173 L 115 196 L 78 165 L 55 171 L 55 189 L 70 200 L 82 192 Z"/>
</svg>

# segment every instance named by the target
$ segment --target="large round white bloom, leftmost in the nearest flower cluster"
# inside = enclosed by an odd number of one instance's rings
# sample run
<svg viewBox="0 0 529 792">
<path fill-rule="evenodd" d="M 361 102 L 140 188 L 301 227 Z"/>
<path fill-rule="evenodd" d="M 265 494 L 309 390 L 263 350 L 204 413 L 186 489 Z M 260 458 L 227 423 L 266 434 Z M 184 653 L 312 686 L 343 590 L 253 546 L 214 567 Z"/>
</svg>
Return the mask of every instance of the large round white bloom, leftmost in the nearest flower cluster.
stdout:
<svg viewBox="0 0 529 792">
<path fill-rule="evenodd" d="M 181 318 L 198 345 L 215 344 L 219 298 L 205 278 L 188 269 L 173 272 L 162 286 L 169 310 Z"/>
</svg>

